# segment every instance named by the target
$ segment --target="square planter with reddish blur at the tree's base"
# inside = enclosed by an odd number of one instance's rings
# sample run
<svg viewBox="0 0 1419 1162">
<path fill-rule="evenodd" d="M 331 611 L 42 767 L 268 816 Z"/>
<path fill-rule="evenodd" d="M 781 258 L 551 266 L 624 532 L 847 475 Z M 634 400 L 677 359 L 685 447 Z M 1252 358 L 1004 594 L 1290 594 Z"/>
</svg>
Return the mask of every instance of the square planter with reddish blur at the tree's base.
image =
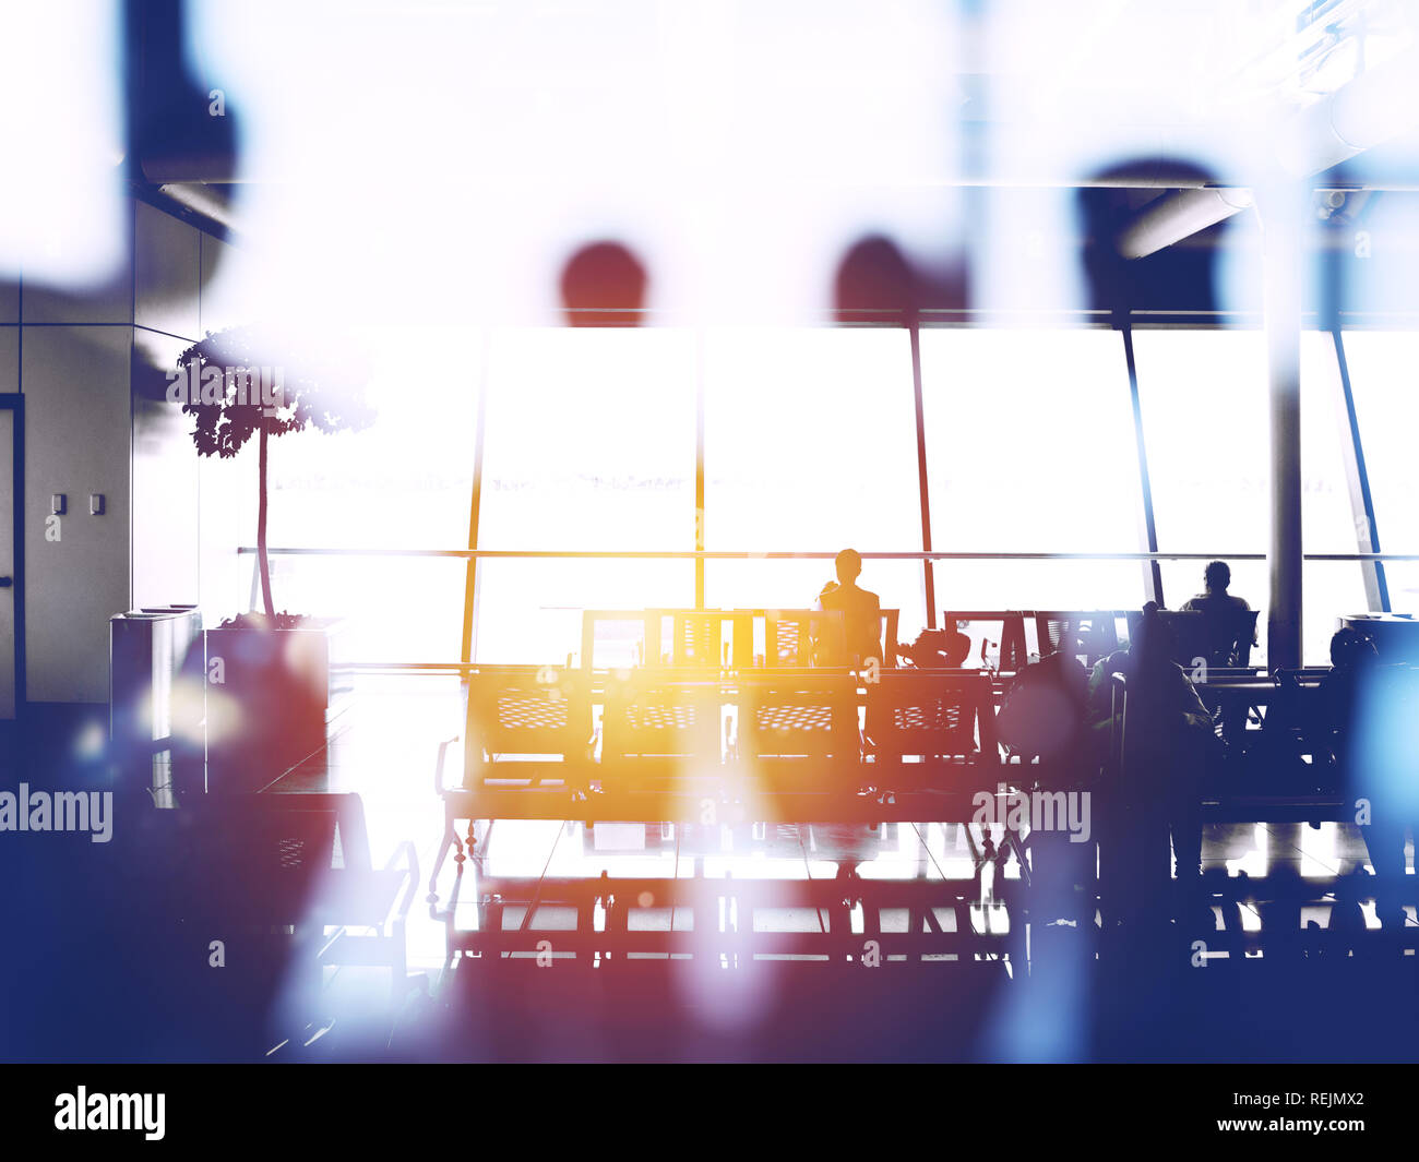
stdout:
<svg viewBox="0 0 1419 1162">
<path fill-rule="evenodd" d="M 207 637 L 207 790 L 255 792 L 325 746 L 338 623 L 220 626 Z"/>
</svg>

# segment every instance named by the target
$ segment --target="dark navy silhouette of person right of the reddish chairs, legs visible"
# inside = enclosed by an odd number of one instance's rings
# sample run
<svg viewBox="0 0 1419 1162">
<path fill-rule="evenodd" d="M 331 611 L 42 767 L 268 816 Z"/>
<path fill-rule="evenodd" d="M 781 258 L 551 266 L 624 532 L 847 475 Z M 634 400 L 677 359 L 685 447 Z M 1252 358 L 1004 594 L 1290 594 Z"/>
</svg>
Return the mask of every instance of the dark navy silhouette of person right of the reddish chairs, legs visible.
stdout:
<svg viewBox="0 0 1419 1162">
<path fill-rule="evenodd" d="M 1165 890 L 1169 878 L 1168 839 L 1178 861 L 1178 880 L 1193 885 L 1202 873 L 1202 782 L 1220 748 L 1213 718 L 1188 673 L 1172 660 L 1176 644 L 1149 602 L 1128 648 L 1094 665 L 1088 680 L 1088 715 L 1097 753 L 1108 753 L 1115 721 L 1127 701 L 1127 731 L 1118 806 L 1124 823 L 1115 839 L 1125 848 L 1121 880 L 1145 894 Z M 1115 705 L 1112 674 L 1122 674 L 1125 699 Z M 1132 847 L 1132 853 L 1127 848 Z M 1142 902 L 1135 900 L 1135 904 Z"/>
</svg>

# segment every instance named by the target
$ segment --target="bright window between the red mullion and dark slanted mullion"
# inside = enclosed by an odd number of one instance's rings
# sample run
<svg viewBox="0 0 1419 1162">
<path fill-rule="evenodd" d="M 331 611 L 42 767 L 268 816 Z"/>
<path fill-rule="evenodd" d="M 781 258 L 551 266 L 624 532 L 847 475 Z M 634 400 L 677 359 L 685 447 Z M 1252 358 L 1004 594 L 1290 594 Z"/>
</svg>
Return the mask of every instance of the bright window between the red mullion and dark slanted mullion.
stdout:
<svg viewBox="0 0 1419 1162">
<path fill-rule="evenodd" d="M 921 335 L 932 548 L 1139 548 L 1122 339 L 1112 331 L 928 329 Z M 1137 562 L 942 562 L 951 609 L 1125 609 Z"/>
</svg>

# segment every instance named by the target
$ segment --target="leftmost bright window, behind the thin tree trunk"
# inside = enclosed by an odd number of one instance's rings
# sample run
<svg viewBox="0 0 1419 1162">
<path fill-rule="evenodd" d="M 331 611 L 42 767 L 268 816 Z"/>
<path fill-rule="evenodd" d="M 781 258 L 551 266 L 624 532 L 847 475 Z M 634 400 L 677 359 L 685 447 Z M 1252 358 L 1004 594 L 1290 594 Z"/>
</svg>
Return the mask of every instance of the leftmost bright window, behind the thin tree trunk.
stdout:
<svg viewBox="0 0 1419 1162">
<path fill-rule="evenodd" d="M 475 331 L 450 335 L 413 326 L 365 335 L 375 421 L 362 431 L 307 430 L 271 443 L 268 543 L 465 545 L 482 338 Z M 450 350 L 458 358 L 450 359 Z M 254 443 L 241 460 L 250 489 L 236 499 L 241 541 L 250 545 L 255 543 Z M 255 558 L 240 560 L 250 579 Z M 465 587 L 458 559 L 274 556 L 271 585 L 277 609 L 343 619 L 338 648 L 345 660 L 458 658 Z"/>
</svg>

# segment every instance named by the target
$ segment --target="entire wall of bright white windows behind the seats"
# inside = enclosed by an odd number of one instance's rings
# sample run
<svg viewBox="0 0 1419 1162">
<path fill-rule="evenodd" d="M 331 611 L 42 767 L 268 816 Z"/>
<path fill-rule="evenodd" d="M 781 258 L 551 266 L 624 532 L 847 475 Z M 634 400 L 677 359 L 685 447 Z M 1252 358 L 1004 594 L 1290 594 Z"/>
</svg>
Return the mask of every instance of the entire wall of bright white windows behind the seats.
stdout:
<svg viewBox="0 0 1419 1162">
<path fill-rule="evenodd" d="M 921 346 L 937 549 L 1141 548 L 1117 332 L 941 328 L 924 331 Z M 708 549 L 873 553 L 921 543 L 911 348 L 898 328 L 512 329 L 487 348 L 473 331 L 450 341 L 443 331 L 387 328 L 373 348 L 377 419 L 368 430 L 272 446 L 272 545 L 465 543 L 478 392 L 487 390 L 480 548 L 688 550 L 697 377 Z M 1135 349 L 1159 546 L 1263 553 L 1261 333 L 1142 331 Z M 1415 481 L 1399 434 L 1416 419 L 1405 409 L 1419 409 L 1386 386 L 1419 343 L 1362 332 L 1348 349 L 1385 545 L 1419 543 L 1419 518 L 1403 504 Z M 1352 552 L 1330 338 L 1305 333 L 1301 355 L 1305 549 Z M 250 543 L 254 497 L 237 499 Z M 1202 563 L 1164 563 L 1171 606 L 1200 587 Z M 1419 570 L 1410 572 L 1391 569 L 1398 609 L 1415 604 Z M 948 560 L 935 566 L 937 603 L 1130 609 L 1144 575 L 1130 560 Z M 688 560 L 485 559 L 478 576 L 480 661 L 565 661 L 579 650 L 585 609 L 694 602 Z M 830 576 L 826 559 L 710 560 L 705 599 L 722 609 L 807 606 Z M 1233 590 L 1264 607 L 1264 562 L 1233 560 Z M 348 619 L 346 657 L 457 657 L 458 559 L 277 558 L 274 582 L 281 607 Z M 1362 576 L 1358 566 L 1317 562 L 1305 583 L 1305 657 L 1323 661 L 1334 619 L 1364 609 Z M 901 609 L 898 634 L 911 641 L 927 620 L 920 562 L 868 559 L 863 585 Z"/>
</svg>

